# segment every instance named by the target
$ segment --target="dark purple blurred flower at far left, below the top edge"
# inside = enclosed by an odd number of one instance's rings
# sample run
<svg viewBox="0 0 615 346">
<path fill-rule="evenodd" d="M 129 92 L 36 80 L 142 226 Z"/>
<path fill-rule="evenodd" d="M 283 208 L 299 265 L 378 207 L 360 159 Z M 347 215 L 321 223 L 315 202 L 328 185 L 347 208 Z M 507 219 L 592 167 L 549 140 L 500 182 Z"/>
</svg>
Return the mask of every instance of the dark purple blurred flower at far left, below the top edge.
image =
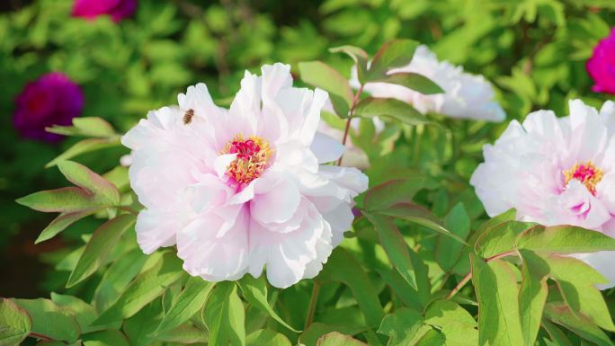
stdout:
<svg viewBox="0 0 615 346">
<path fill-rule="evenodd" d="M 45 131 L 70 125 L 84 108 L 84 93 L 67 75 L 54 72 L 30 82 L 15 100 L 13 125 L 24 138 L 57 142 L 63 136 Z"/>
</svg>

